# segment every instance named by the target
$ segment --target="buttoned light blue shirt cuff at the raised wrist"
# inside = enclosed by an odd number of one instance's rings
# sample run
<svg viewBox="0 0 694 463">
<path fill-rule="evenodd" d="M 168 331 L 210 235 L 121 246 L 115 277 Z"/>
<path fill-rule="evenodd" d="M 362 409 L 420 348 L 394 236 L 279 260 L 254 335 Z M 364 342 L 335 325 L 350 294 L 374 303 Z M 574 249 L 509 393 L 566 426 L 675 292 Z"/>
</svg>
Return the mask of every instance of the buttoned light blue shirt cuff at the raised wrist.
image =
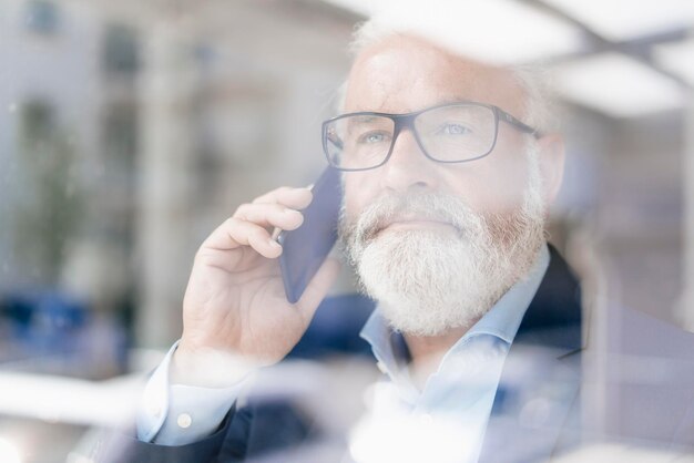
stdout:
<svg viewBox="0 0 694 463">
<path fill-rule="evenodd" d="M 176 341 L 154 371 L 137 409 L 137 439 L 163 445 L 184 445 L 204 439 L 220 426 L 241 395 L 246 380 L 228 388 L 170 384 L 169 371 Z"/>
</svg>

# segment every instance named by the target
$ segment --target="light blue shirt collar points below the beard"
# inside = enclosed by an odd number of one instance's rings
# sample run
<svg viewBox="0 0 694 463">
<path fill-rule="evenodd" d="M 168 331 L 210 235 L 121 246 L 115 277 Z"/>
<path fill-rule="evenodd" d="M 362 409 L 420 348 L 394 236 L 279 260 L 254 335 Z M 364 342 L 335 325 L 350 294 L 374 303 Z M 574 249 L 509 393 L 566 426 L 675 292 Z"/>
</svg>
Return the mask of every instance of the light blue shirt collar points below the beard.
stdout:
<svg viewBox="0 0 694 463">
<path fill-rule="evenodd" d="M 538 251 L 530 272 L 516 282 L 456 344 L 472 337 L 490 335 L 510 346 L 516 338 L 525 310 L 540 287 L 549 263 L 550 253 L 544 245 Z M 388 326 L 378 307 L 365 323 L 359 336 L 371 346 L 374 356 L 387 372 L 391 377 L 396 375 L 402 363 L 406 362 L 407 348 L 401 335 Z"/>
</svg>

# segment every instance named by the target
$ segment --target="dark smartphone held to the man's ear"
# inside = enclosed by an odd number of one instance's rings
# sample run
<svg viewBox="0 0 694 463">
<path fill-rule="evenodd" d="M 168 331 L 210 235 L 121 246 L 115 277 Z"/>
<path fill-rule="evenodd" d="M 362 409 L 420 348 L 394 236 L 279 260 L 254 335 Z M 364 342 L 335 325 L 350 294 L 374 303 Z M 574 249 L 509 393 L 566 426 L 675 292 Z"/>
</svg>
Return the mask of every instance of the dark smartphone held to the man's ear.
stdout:
<svg viewBox="0 0 694 463">
<path fill-rule="evenodd" d="M 337 241 L 343 188 L 339 171 L 327 167 L 312 188 L 313 202 L 302 213 L 304 223 L 290 232 L 282 232 L 277 241 L 282 279 L 287 300 L 298 301 L 320 265 Z"/>
</svg>

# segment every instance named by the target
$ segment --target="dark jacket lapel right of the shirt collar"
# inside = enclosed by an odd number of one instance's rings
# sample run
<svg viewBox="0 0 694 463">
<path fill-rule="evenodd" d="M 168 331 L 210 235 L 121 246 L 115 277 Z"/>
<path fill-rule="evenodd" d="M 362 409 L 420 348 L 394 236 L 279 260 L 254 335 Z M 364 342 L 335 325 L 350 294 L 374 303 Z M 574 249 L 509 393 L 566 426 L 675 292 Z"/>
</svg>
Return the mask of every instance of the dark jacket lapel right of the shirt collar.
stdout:
<svg viewBox="0 0 694 463">
<path fill-rule="evenodd" d="M 578 418 L 583 344 L 579 282 L 550 246 L 550 266 L 504 362 L 479 462 L 551 457 Z"/>
</svg>

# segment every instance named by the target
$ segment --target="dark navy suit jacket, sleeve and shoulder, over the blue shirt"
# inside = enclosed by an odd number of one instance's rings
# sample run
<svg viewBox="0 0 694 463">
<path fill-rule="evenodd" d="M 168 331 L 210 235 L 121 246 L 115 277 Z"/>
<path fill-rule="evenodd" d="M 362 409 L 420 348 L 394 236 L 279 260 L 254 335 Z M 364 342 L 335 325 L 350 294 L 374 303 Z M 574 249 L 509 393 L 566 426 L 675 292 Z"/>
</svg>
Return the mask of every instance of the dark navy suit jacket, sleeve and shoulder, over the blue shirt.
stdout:
<svg viewBox="0 0 694 463">
<path fill-rule="evenodd" d="M 552 247 L 550 253 L 548 271 L 507 357 L 479 461 L 547 461 L 604 439 L 694 446 L 692 336 L 644 316 L 623 315 L 622 327 L 629 329 L 620 335 L 619 346 L 629 349 L 599 346 L 590 354 L 579 282 Z M 351 302 L 372 306 L 366 299 Z M 329 313 L 328 308 L 319 310 Z M 649 364 L 673 358 L 678 362 L 667 363 L 665 374 L 661 368 L 662 378 L 647 384 L 586 374 L 582 359 L 611 362 L 608 370 L 613 372 L 624 352 L 646 354 Z M 237 462 L 310 442 L 315 435 L 310 419 L 290 403 L 252 403 L 231 410 L 220 430 L 203 441 L 163 446 L 121 434 L 101 445 L 96 460 Z"/>
</svg>

